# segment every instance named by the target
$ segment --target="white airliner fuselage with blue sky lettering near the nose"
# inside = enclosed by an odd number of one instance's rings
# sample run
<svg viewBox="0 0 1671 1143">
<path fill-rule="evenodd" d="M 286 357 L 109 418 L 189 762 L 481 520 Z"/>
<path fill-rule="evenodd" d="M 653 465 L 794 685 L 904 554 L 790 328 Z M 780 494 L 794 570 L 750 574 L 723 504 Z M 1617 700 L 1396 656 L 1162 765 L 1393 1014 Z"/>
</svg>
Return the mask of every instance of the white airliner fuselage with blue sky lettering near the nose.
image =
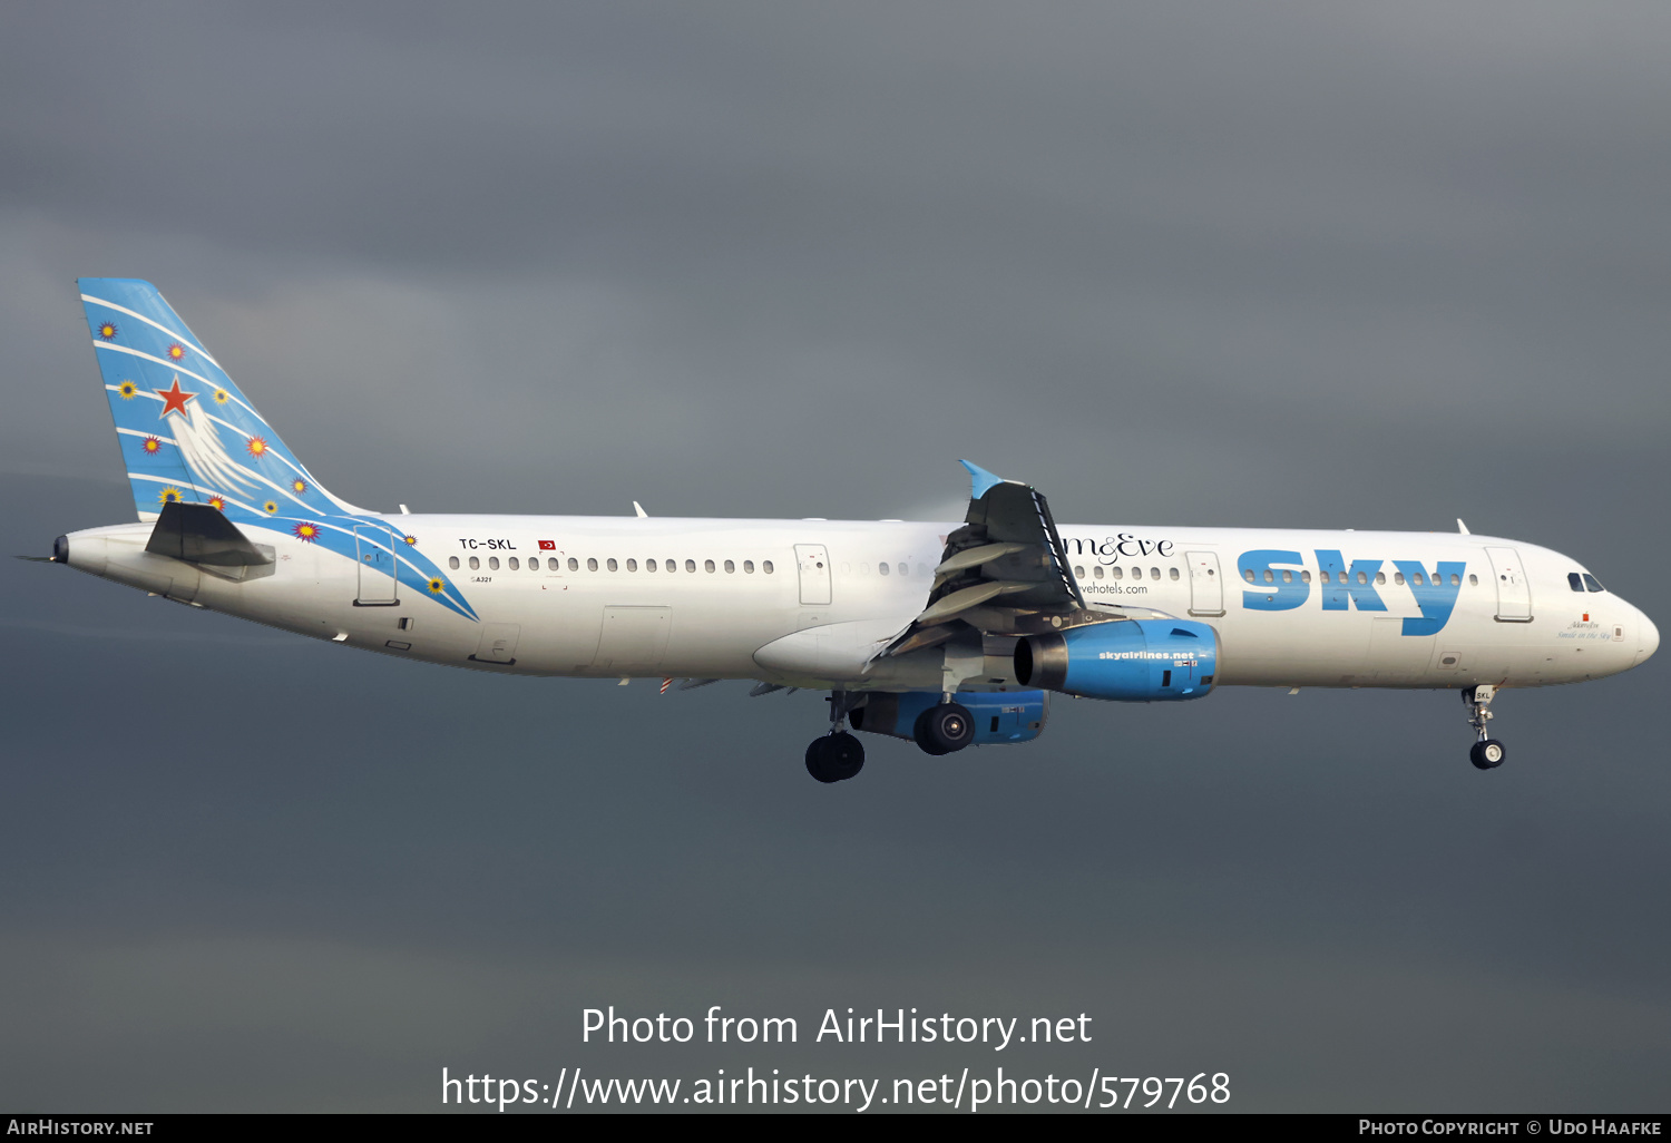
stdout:
<svg viewBox="0 0 1671 1143">
<path fill-rule="evenodd" d="M 480 620 L 386 575 L 363 582 L 353 560 L 287 531 L 246 528 L 276 560 L 242 580 L 147 553 L 149 523 L 72 533 L 69 563 L 302 635 L 490 672 L 939 685 L 939 650 L 916 653 L 914 665 L 869 660 L 924 608 L 956 523 L 386 520 L 449 568 Z M 1577 561 L 1512 540 L 1081 525 L 1059 531 L 1088 603 L 1210 623 L 1220 638 L 1220 685 L 1534 687 L 1626 670 L 1659 640 L 1623 598 L 1574 592 L 1569 577 L 1584 572 Z M 1258 568 L 1243 566 L 1248 553 Z M 1345 568 L 1380 561 L 1364 585 L 1354 575 L 1345 607 L 1340 588 L 1322 582 L 1333 553 Z M 1414 566 L 1424 583 L 1442 577 L 1425 610 L 1407 578 Z M 1330 592 L 1333 607 L 1325 605 Z M 1365 610 L 1377 602 L 1384 610 Z M 1439 627 L 1410 635 L 1407 618 Z M 989 648 L 994 670 L 1004 650 Z M 1013 687 L 1004 680 L 989 688 Z"/>
</svg>

